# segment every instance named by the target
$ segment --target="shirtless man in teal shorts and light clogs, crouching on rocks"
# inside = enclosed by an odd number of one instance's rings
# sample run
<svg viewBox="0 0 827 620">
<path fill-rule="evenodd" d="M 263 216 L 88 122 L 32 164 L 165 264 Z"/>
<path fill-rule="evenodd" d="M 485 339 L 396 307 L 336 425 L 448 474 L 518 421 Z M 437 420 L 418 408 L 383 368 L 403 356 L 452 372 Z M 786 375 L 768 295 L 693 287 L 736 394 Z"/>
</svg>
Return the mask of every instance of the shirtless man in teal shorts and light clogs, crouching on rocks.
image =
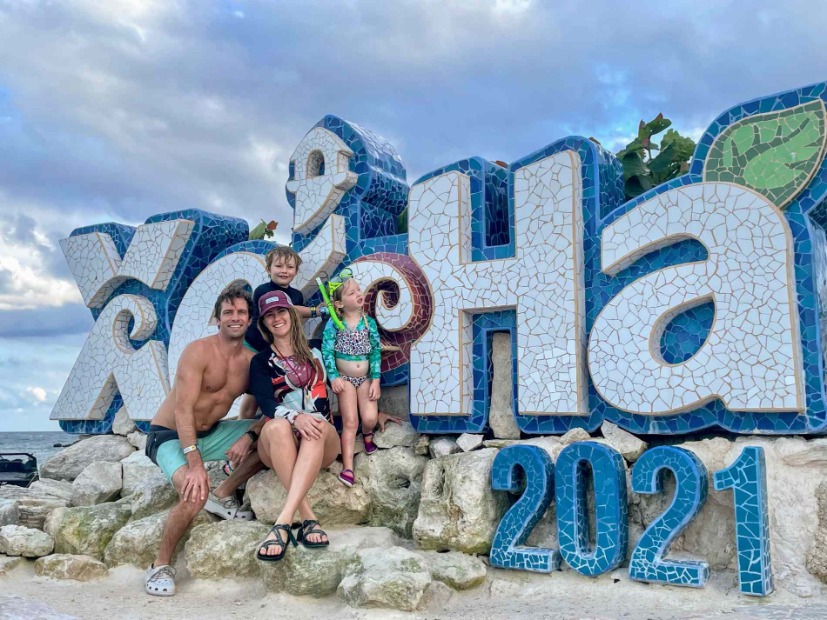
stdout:
<svg viewBox="0 0 827 620">
<path fill-rule="evenodd" d="M 244 346 L 252 300 L 243 285 L 243 281 L 236 280 L 218 296 L 214 310 L 218 334 L 196 340 L 184 349 L 172 390 L 152 419 L 147 435 L 147 456 L 163 470 L 180 496 L 164 525 L 158 557 L 146 571 L 148 594 L 175 594 L 172 554 L 202 508 L 206 506 L 225 519 L 253 517 L 252 512 L 240 510 L 234 492 L 262 467 L 257 452 L 245 457 L 266 419 L 220 421 L 233 401 L 247 391 L 254 355 Z M 204 462 L 225 459 L 240 465 L 210 493 Z"/>
</svg>

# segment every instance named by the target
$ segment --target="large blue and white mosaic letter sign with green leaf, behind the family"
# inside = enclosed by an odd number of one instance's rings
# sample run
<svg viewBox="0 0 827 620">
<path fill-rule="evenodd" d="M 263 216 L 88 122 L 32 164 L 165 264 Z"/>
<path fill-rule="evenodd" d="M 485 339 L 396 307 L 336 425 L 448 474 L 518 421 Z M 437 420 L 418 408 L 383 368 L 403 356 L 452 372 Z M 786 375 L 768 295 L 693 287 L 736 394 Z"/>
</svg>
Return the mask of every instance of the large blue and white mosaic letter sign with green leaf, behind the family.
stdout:
<svg viewBox="0 0 827 620">
<path fill-rule="evenodd" d="M 827 432 L 825 100 L 817 84 L 727 110 L 687 174 L 628 202 L 619 162 L 585 138 L 409 186 L 387 141 L 327 116 L 290 158 L 293 285 L 316 303 L 315 278 L 350 267 L 380 327 L 383 384 L 409 385 L 420 432 L 487 429 L 497 332 L 511 335 L 527 434 L 604 420 Z M 214 333 L 218 291 L 266 281 L 271 245 L 247 235 L 241 220 L 181 211 L 65 239 L 97 322 L 52 418 L 83 433 L 107 432 L 120 407 L 149 420 L 183 348 Z"/>
</svg>

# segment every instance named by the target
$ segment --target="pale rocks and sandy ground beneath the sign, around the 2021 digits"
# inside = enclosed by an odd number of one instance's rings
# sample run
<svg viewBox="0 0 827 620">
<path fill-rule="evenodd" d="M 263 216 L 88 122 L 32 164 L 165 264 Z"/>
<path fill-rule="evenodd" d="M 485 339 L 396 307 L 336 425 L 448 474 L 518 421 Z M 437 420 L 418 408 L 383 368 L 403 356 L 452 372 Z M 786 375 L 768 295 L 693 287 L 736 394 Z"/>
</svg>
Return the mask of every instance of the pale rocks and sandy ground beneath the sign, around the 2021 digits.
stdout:
<svg viewBox="0 0 827 620">
<path fill-rule="evenodd" d="M 143 435 L 119 414 L 116 434 L 58 453 L 30 489 L 0 488 L 0 619 L 181 618 L 193 608 L 203 618 L 269 618 L 274 609 L 320 618 L 827 617 L 827 439 L 681 444 L 709 472 L 732 463 L 746 445 L 764 448 L 776 592 L 756 600 L 737 589 L 731 494 L 713 490 L 670 552 L 709 563 L 703 590 L 632 582 L 625 568 L 595 579 L 570 569 L 534 575 L 489 567 L 497 524 L 516 499 L 491 489 L 499 450 L 535 445 L 556 460 L 573 442 L 597 441 L 623 456 L 628 474 L 648 447 L 608 422 L 594 436 L 577 429 L 521 439 L 508 424 L 510 412 L 492 402 L 494 438 L 429 437 L 407 422 L 390 425 L 376 435 L 376 454 L 357 454 L 352 489 L 336 479 L 340 464 L 321 472 L 309 499 L 331 532 L 325 550 L 291 548 L 276 564 L 255 560 L 285 496 L 272 472 L 257 474 L 247 498 L 258 520 L 199 515 L 177 552 L 173 600 L 145 595 L 142 574 L 176 495 L 140 450 Z M 383 408 L 403 413 L 387 400 Z M 220 468 L 209 471 L 217 484 Z M 660 495 L 629 494 L 630 549 L 665 509 L 668 481 L 666 487 Z M 556 547 L 555 521 L 552 504 L 528 544 Z"/>
</svg>

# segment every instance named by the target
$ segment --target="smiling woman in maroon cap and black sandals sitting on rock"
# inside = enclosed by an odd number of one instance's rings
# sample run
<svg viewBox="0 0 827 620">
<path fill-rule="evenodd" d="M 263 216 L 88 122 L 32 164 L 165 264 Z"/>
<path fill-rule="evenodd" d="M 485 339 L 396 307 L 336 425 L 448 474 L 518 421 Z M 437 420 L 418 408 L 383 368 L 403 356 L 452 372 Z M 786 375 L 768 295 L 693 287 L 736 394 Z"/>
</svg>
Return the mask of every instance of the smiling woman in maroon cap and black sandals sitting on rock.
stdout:
<svg viewBox="0 0 827 620">
<path fill-rule="evenodd" d="M 250 362 L 250 391 L 271 418 L 261 430 L 258 453 L 276 472 L 287 500 L 256 557 L 274 562 L 284 557 L 290 542 L 305 547 L 329 544 L 307 492 L 319 471 L 339 454 L 339 436 L 330 423 L 321 354 L 308 346 L 290 298 L 273 291 L 263 295 L 258 306 L 258 328 L 270 348 Z M 290 524 L 296 510 L 304 521 L 294 538 Z"/>
</svg>

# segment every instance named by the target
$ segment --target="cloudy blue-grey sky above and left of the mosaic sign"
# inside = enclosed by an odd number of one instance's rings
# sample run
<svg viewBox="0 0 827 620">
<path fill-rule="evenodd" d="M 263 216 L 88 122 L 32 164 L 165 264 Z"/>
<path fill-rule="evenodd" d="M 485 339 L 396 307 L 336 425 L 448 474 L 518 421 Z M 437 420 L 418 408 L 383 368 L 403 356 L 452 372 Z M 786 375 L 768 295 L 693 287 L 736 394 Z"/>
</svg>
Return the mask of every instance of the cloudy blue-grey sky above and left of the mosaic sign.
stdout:
<svg viewBox="0 0 827 620">
<path fill-rule="evenodd" d="M 571 134 L 618 150 L 658 112 L 698 137 L 827 79 L 827 8 L 590 0 L 0 0 L 0 431 L 48 420 L 91 327 L 58 241 L 186 207 L 282 223 L 327 113 L 409 181 Z"/>
</svg>

